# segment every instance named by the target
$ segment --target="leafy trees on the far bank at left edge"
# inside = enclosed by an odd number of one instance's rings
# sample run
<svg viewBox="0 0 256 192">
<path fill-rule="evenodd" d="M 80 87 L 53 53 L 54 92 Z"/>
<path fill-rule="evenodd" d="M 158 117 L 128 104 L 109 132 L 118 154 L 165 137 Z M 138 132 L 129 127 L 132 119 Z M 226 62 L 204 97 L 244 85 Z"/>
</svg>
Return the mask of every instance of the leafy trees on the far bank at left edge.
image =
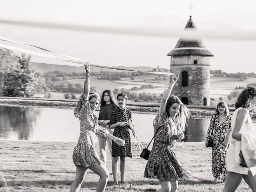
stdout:
<svg viewBox="0 0 256 192">
<path fill-rule="evenodd" d="M 31 56 L 0 48 L 0 96 L 31 97 L 42 93 L 50 97 L 43 76 L 36 72 L 30 60 Z"/>
</svg>

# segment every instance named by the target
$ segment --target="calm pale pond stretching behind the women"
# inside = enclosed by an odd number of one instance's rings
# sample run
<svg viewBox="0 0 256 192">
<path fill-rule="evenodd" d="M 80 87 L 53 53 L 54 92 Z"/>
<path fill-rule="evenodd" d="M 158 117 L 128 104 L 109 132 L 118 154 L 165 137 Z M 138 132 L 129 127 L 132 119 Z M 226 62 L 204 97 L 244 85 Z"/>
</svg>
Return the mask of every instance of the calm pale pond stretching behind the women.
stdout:
<svg viewBox="0 0 256 192">
<path fill-rule="evenodd" d="M 98 113 L 95 112 L 97 116 Z M 152 122 L 156 115 L 132 113 L 132 117 L 140 142 L 149 142 L 154 135 Z M 190 118 L 182 141 L 204 141 L 209 121 L 210 118 Z M 79 134 L 79 119 L 73 110 L 0 106 L 0 139 L 77 141 Z M 131 140 L 134 141 L 133 136 Z"/>
</svg>

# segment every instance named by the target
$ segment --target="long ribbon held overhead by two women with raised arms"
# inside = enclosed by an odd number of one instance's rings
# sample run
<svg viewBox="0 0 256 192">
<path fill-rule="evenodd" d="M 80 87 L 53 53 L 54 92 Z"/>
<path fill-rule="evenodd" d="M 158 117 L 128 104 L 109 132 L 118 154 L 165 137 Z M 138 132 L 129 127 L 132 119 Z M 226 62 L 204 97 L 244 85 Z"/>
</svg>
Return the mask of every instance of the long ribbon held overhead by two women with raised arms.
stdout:
<svg viewBox="0 0 256 192">
<path fill-rule="evenodd" d="M 34 48 L 37 48 L 37 49 L 40 49 L 40 50 L 43 50 L 43 51 L 46 51 L 46 52 L 51 52 L 51 53 L 60 55 L 60 56 L 55 56 L 55 55 L 52 55 L 52 54 L 46 54 L 46 53 L 41 53 L 41 52 L 32 51 L 32 50 L 28 50 L 28 49 L 18 48 L 18 47 L 6 45 L 6 44 L 0 44 L 0 47 L 2 47 L 2 48 L 15 50 L 15 51 L 19 51 L 19 52 L 24 52 L 24 53 L 28 53 L 28 54 L 32 54 L 32 55 L 36 55 L 36 56 L 42 56 L 42 57 L 45 57 L 45 58 L 62 60 L 62 61 L 82 64 L 82 65 L 90 65 L 90 66 L 106 68 L 106 69 L 144 72 L 144 73 L 159 74 L 159 75 L 175 75 L 175 73 L 169 73 L 169 72 L 150 72 L 150 71 L 140 71 L 140 70 L 132 70 L 132 69 L 123 69 L 123 68 L 117 68 L 117 67 L 102 66 L 102 65 L 92 64 L 92 63 L 90 63 L 86 60 L 82 60 L 82 59 L 79 59 L 79 58 L 74 58 L 74 57 L 71 57 L 71 56 L 67 56 L 67 55 L 56 53 L 56 52 L 52 52 L 50 50 L 47 50 L 45 48 L 41 48 L 41 47 L 38 47 L 38 46 L 25 44 L 25 43 L 20 43 L 20 42 L 16 42 L 16 41 L 9 40 L 9 39 L 2 38 L 2 37 L 0 37 L 0 40 L 5 41 L 5 42 L 11 42 L 11 43 L 14 43 L 14 44 L 21 44 L 21 45 L 25 45 L 25 46 L 30 46 L 30 47 L 34 47 Z M 66 58 L 64 58 L 64 57 L 66 57 Z"/>
</svg>

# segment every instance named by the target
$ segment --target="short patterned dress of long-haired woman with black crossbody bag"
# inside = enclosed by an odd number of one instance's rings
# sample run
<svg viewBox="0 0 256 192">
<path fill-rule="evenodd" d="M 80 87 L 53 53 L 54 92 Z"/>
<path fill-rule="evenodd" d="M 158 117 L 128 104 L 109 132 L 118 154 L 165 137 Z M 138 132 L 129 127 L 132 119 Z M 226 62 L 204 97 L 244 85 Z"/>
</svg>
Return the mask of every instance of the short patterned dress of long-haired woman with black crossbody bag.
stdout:
<svg viewBox="0 0 256 192">
<path fill-rule="evenodd" d="M 150 152 L 144 171 L 144 177 L 155 178 L 159 181 L 174 181 L 191 178 L 190 172 L 180 165 L 172 147 L 178 139 L 177 130 L 170 126 L 166 112 L 162 114 L 158 124 L 158 114 L 153 121 L 154 132 L 160 127 Z"/>
</svg>

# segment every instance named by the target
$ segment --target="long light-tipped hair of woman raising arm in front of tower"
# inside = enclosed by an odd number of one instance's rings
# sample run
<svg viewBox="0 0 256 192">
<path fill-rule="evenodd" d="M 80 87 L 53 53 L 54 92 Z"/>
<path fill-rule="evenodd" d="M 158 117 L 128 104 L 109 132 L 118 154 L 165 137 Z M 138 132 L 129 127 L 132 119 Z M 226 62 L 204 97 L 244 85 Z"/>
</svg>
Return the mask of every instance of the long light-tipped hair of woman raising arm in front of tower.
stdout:
<svg viewBox="0 0 256 192">
<path fill-rule="evenodd" d="M 186 120 L 188 119 L 188 115 L 189 115 L 188 108 L 186 108 L 186 106 L 182 103 L 182 101 L 177 96 L 172 95 L 168 98 L 166 102 L 165 111 L 168 117 L 170 117 L 169 109 L 174 103 L 178 103 L 180 105 L 180 110 L 172 120 L 176 124 L 178 130 L 182 130 L 182 132 L 184 132 L 185 127 L 187 125 Z"/>
</svg>

